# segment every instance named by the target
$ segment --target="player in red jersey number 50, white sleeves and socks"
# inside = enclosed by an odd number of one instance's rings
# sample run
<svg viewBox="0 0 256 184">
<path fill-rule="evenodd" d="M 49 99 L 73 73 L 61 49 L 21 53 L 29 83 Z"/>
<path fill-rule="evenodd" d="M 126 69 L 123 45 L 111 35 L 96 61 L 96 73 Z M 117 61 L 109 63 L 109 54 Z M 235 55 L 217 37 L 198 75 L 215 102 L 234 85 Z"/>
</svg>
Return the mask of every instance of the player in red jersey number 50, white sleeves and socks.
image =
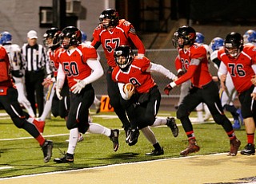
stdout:
<svg viewBox="0 0 256 184">
<path fill-rule="evenodd" d="M 60 40 L 64 48 L 56 61 L 59 63 L 56 94 L 62 100 L 61 90 L 65 78 L 70 88 L 70 111 L 66 118 L 66 127 L 70 130 L 69 147 L 66 155 L 54 162 L 74 162 L 74 150 L 78 143 L 79 132 L 86 131 L 110 137 L 114 143 L 114 151 L 118 151 L 119 130 L 110 130 L 98 123 L 89 123 L 88 114 L 94 103 L 94 88 L 92 84 L 103 75 L 102 65 L 97 59 L 96 49 L 91 45 L 81 45 L 81 31 L 68 26 L 62 30 Z"/>
</svg>

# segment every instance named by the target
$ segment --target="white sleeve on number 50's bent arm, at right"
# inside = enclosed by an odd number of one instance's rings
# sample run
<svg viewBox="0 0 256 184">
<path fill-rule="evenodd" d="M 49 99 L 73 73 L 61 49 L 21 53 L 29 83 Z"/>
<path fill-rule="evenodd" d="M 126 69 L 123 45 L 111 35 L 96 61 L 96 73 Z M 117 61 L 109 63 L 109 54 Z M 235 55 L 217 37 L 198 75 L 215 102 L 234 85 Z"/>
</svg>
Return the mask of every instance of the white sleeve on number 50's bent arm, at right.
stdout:
<svg viewBox="0 0 256 184">
<path fill-rule="evenodd" d="M 103 76 L 104 71 L 103 71 L 102 65 L 101 65 L 100 61 L 98 61 L 98 59 L 97 60 L 88 59 L 86 61 L 86 63 L 87 63 L 87 65 L 90 66 L 90 69 L 92 69 L 93 72 L 91 72 L 90 76 L 87 76 L 85 79 L 83 79 L 85 84 L 90 84 Z"/>
</svg>

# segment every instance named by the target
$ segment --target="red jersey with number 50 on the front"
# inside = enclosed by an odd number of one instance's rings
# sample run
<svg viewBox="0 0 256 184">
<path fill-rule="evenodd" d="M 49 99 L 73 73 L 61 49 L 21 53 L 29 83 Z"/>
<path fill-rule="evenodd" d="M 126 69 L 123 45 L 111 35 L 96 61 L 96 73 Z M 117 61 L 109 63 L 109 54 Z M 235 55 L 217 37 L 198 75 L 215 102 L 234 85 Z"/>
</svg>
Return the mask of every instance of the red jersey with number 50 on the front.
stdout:
<svg viewBox="0 0 256 184">
<path fill-rule="evenodd" d="M 83 80 L 87 76 L 90 76 L 92 69 L 86 64 L 86 61 L 89 58 L 96 60 L 97 57 L 96 49 L 90 45 L 78 45 L 73 53 L 65 49 L 60 51 L 57 62 L 62 65 L 70 88 L 74 84 L 77 84 L 74 79 Z"/>
</svg>

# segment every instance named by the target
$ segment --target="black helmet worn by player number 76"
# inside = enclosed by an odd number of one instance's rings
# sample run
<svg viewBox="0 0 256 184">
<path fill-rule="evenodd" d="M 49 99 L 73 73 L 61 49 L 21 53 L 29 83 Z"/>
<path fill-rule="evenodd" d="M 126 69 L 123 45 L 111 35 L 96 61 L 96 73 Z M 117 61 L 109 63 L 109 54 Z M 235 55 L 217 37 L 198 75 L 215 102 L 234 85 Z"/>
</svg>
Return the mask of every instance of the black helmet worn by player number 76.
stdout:
<svg viewBox="0 0 256 184">
<path fill-rule="evenodd" d="M 243 37 L 240 33 L 231 32 L 224 41 L 225 53 L 230 58 L 237 58 L 243 49 Z"/>
</svg>

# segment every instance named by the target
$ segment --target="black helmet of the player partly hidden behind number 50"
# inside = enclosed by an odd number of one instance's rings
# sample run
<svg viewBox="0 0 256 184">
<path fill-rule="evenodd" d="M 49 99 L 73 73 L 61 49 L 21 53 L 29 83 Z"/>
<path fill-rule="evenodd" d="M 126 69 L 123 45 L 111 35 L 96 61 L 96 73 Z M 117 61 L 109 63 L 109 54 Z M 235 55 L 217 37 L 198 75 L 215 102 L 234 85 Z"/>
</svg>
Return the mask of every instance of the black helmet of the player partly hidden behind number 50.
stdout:
<svg viewBox="0 0 256 184">
<path fill-rule="evenodd" d="M 51 49 L 57 49 L 60 46 L 60 43 L 59 43 L 60 33 L 62 33 L 62 31 L 56 27 L 52 27 L 46 30 L 46 33 L 43 34 L 43 44 L 46 47 L 49 47 Z M 48 38 L 53 39 L 53 42 L 51 44 L 48 44 L 48 41 L 47 41 Z"/>
</svg>

